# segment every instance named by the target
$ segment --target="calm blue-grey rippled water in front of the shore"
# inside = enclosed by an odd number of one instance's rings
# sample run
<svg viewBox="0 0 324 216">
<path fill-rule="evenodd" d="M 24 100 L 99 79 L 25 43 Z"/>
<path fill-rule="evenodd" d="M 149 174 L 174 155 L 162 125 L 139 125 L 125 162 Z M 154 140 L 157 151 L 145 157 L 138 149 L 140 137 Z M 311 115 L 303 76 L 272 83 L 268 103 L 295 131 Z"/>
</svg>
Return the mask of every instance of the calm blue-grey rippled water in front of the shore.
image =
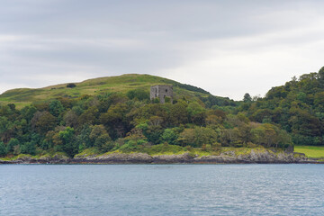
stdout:
<svg viewBox="0 0 324 216">
<path fill-rule="evenodd" d="M 324 166 L 2 165 L 0 215 L 324 215 Z"/>
</svg>

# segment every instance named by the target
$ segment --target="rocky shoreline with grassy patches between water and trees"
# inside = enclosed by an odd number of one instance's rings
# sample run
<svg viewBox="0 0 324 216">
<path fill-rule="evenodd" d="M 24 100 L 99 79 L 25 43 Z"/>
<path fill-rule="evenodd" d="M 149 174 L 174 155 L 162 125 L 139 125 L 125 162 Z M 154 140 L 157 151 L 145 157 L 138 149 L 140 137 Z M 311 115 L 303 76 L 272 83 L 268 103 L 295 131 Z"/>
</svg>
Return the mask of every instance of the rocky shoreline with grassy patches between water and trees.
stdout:
<svg viewBox="0 0 324 216">
<path fill-rule="evenodd" d="M 251 150 L 249 154 L 235 155 L 224 152 L 219 156 L 202 156 L 184 153 L 181 155 L 156 155 L 146 153 L 112 153 L 101 156 L 19 157 L 15 160 L 0 160 L 0 164 L 324 164 L 317 158 L 308 158 L 300 153 L 275 153 Z"/>
</svg>

